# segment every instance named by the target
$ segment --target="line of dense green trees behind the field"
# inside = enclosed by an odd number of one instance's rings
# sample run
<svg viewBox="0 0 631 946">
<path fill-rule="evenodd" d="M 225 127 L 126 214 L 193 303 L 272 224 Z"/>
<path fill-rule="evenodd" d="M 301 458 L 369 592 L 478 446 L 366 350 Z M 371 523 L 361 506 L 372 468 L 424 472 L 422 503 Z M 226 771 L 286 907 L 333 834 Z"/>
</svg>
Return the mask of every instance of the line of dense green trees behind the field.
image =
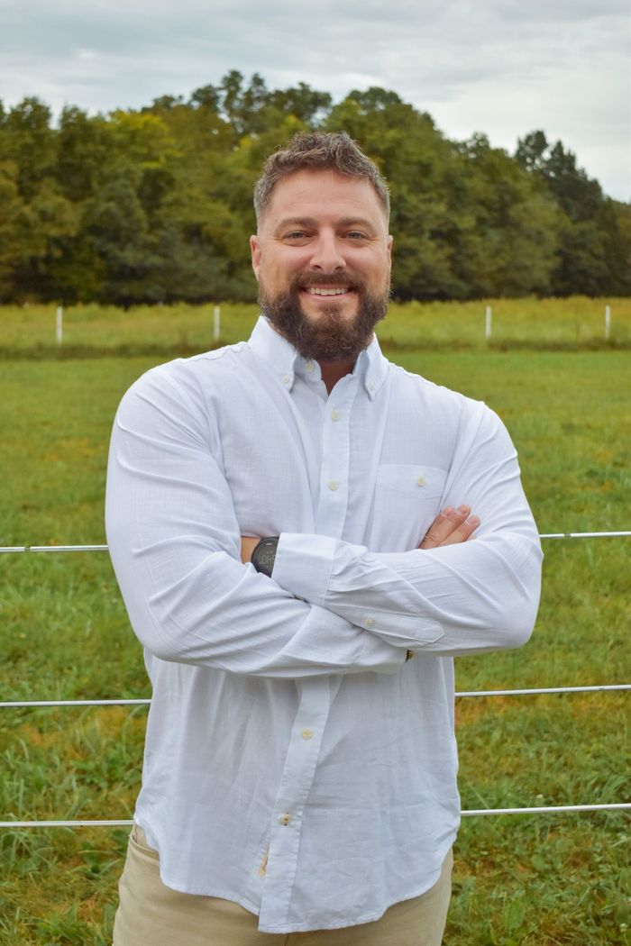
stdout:
<svg viewBox="0 0 631 946">
<path fill-rule="evenodd" d="M 543 131 L 451 141 L 381 88 L 334 104 L 229 72 L 184 100 L 57 123 L 0 103 L 0 301 L 252 301 L 252 189 L 295 131 L 345 130 L 387 177 L 394 296 L 631 294 L 631 205 Z"/>
</svg>

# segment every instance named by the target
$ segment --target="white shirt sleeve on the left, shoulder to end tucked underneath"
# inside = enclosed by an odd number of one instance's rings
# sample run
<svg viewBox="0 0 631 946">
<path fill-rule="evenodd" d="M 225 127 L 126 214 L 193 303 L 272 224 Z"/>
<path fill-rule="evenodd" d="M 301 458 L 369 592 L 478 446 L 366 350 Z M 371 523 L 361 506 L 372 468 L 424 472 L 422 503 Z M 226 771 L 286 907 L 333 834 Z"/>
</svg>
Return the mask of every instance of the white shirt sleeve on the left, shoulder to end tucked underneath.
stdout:
<svg viewBox="0 0 631 946">
<path fill-rule="evenodd" d="M 108 464 L 106 532 L 137 637 L 164 660 L 236 674 L 394 673 L 392 643 L 240 560 L 232 496 L 207 418 L 166 372 L 123 398 Z"/>
</svg>

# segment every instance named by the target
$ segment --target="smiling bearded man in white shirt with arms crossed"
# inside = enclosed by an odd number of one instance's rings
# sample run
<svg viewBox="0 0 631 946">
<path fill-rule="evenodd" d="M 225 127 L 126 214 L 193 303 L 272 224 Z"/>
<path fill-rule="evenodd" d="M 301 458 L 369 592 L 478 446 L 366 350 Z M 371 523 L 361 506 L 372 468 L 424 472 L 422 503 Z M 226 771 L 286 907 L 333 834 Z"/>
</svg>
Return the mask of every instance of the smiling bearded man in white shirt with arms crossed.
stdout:
<svg viewBox="0 0 631 946">
<path fill-rule="evenodd" d="M 114 943 L 436 946 L 452 657 L 529 637 L 535 524 L 496 415 L 379 351 L 376 166 L 299 135 L 254 206 L 250 341 L 153 369 L 114 424 L 108 541 L 153 685 Z"/>
</svg>

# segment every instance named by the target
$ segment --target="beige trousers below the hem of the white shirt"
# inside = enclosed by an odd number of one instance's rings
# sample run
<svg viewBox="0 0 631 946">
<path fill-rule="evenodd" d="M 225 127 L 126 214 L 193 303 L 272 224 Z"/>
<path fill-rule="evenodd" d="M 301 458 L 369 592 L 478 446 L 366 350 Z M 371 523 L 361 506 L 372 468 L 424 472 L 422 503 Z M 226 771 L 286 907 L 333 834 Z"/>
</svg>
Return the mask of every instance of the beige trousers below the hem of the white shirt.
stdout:
<svg viewBox="0 0 631 946">
<path fill-rule="evenodd" d="M 438 882 L 395 903 L 380 920 L 338 930 L 259 933 L 258 918 L 238 903 L 171 890 L 160 880 L 158 853 L 133 828 L 118 884 L 114 946 L 440 946 L 451 896 L 453 855 Z"/>
</svg>

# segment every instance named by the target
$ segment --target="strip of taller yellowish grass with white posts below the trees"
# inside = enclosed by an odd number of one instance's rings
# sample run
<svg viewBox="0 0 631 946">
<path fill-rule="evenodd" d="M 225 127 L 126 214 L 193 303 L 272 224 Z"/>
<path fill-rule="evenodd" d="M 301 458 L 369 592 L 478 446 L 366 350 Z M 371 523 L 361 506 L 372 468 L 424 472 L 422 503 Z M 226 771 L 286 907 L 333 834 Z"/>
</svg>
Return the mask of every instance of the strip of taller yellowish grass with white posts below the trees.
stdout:
<svg viewBox="0 0 631 946">
<path fill-rule="evenodd" d="M 605 342 L 605 306 L 611 309 Z M 485 310 L 493 313 L 491 339 L 484 338 Z M 74 359 L 96 355 L 173 357 L 213 347 L 214 307 L 76 306 L 63 313 L 63 343 L 55 335 L 55 307 L 1 307 L 0 358 Z M 221 343 L 247 338 L 255 306 L 222 304 Z M 428 348 L 631 347 L 631 299 L 488 299 L 466 303 L 407 303 L 391 307 L 380 337 L 396 350 Z"/>
</svg>

